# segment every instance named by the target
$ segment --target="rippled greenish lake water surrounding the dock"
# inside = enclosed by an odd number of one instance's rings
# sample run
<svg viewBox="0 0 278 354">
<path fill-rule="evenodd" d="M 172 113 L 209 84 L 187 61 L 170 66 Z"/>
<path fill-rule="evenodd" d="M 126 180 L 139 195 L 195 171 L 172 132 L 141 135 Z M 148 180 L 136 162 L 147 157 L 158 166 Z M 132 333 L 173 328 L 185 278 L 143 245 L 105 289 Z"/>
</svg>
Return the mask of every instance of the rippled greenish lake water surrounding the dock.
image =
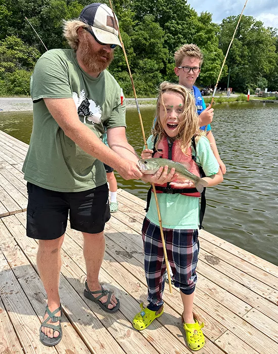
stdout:
<svg viewBox="0 0 278 354">
<path fill-rule="evenodd" d="M 142 108 L 148 138 L 154 107 Z M 138 154 L 144 146 L 136 109 L 127 110 L 127 137 Z M 212 124 L 227 173 L 219 186 L 207 189 L 204 228 L 208 232 L 278 265 L 278 105 L 241 103 L 216 105 Z M 0 129 L 29 143 L 31 112 L 2 112 Z M 148 185 L 118 185 L 146 199 Z"/>
</svg>

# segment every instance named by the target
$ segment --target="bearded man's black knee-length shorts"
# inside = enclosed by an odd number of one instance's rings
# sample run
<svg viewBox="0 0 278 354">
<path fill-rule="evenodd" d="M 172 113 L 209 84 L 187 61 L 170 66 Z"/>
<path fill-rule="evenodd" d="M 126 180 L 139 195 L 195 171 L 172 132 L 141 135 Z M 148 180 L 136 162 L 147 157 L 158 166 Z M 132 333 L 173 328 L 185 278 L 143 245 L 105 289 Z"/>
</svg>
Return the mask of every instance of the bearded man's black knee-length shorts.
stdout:
<svg viewBox="0 0 278 354">
<path fill-rule="evenodd" d="M 83 192 L 56 192 L 27 182 L 27 236 L 39 240 L 61 237 L 67 227 L 89 234 L 104 230 L 110 219 L 107 184 Z"/>
</svg>

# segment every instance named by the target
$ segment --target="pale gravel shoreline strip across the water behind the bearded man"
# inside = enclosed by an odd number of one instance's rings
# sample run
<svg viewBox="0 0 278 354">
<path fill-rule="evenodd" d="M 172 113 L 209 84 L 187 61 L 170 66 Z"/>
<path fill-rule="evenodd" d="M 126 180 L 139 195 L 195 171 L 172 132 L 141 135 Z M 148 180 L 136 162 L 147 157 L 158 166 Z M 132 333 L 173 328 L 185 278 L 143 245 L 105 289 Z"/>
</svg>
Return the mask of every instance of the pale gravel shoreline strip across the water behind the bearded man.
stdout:
<svg viewBox="0 0 278 354">
<path fill-rule="evenodd" d="M 127 98 L 126 108 L 136 108 L 134 98 Z M 156 98 L 138 98 L 140 107 L 155 106 Z M 33 110 L 30 97 L 0 97 L 0 112 L 26 112 Z"/>
</svg>

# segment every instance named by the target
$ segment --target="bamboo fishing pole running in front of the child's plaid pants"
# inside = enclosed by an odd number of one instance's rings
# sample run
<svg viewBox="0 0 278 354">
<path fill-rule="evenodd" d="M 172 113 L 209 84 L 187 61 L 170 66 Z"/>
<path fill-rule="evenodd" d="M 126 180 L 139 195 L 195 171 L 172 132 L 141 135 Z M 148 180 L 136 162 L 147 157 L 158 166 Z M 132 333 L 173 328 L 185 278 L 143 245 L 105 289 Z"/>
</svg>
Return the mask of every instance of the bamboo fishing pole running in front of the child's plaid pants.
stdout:
<svg viewBox="0 0 278 354">
<path fill-rule="evenodd" d="M 131 80 L 131 84 L 132 84 L 132 89 L 133 89 L 133 94 L 134 94 L 134 98 L 135 98 L 135 102 L 136 102 L 138 116 L 139 116 L 139 119 L 140 119 L 140 125 L 141 125 L 142 135 L 143 135 L 143 139 L 144 139 L 144 144 L 145 144 L 146 149 L 148 149 L 148 145 L 147 145 L 147 141 L 146 141 L 146 137 L 145 137 L 143 120 L 142 120 L 140 107 L 139 107 L 138 100 L 137 100 L 137 95 L 136 95 L 136 90 L 135 90 L 135 85 L 134 85 L 134 82 L 133 82 L 131 70 L 130 70 L 130 67 L 129 67 L 129 64 L 128 64 L 127 55 L 126 55 L 126 52 L 125 52 L 125 49 L 124 49 L 124 44 L 123 44 L 123 41 L 122 41 L 120 29 L 119 29 L 119 26 L 118 26 L 118 23 L 117 23 L 117 20 L 116 20 L 116 15 L 114 13 L 111 0 L 109 0 L 109 3 L 110 3 L 111 10 L 113 12 L 113 15 L 114 15 L 115 23 L 116 23 L 117 30 L 118 30 L 118 33 L 119 33 L 119 39 L 120 39 L 120 42 L 121 42 L 121 45 L 122 45 L 123 54 L 124 54 L 124 57 L 125 57 L 126 65 L 127 65 L 127 68 L 128 68 L 128 72 L 129 72 L 129 76 L 130 76 L 130 80 Z M 155 202 L 156 202 L 156 207 L 157 207 L 160 235 L 161 235 L 161 241 L 162 241 L 163 252 L 164 252 L 164 259 L 165 259 L 165 263 L 166 263 L 166 269 L 167 269 L 168 280 L 169 280 L 169 291 L 170 291 L 170 293 L 172 293 L 171 275 L 170 275 L 170 270 L 169 270 L 168 256 L 167 256 L 167 250 L 166 250 L 166 245 L 165 245 L 165 240 L 164 240 L 164 234 L 163 234 L 163 228 L 162 228 L 162 221 L 161 221 L 161 215 L 160 215 L 160 210 L 159 210 L 159 204 L 158 204 L 158 199 L 157 199 L 155 185 L 153 183 L 151 183 L 151 185 L 153 187 L 154 196 L 155 196 Z"/>
</svg>

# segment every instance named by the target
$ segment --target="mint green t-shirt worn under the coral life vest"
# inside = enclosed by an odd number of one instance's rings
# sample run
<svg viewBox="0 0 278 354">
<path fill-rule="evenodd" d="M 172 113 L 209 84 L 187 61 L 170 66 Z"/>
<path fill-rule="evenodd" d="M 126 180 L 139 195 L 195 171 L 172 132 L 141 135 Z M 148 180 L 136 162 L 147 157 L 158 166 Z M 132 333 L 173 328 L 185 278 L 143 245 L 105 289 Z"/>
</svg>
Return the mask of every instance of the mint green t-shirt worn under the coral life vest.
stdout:
<svg viewBox="0 0 278 354">
<path fill-rule="evenodd" d="M 150 136 L 148 148 L 153 149 L 153 136 Z M 209 140 L 201 137 L 196 144 L 197 163 L 200 164 L 206 176 L 216 174 L 219 164 L 211 150 Z M 199 198 L 181 194 L 157 193 L 162 227 L 166 229 L 196 230 L 199 226 Z M 154 194 L 152 193 L 150 208 L 146 217 L 159 226 Z"/>
</svg>

